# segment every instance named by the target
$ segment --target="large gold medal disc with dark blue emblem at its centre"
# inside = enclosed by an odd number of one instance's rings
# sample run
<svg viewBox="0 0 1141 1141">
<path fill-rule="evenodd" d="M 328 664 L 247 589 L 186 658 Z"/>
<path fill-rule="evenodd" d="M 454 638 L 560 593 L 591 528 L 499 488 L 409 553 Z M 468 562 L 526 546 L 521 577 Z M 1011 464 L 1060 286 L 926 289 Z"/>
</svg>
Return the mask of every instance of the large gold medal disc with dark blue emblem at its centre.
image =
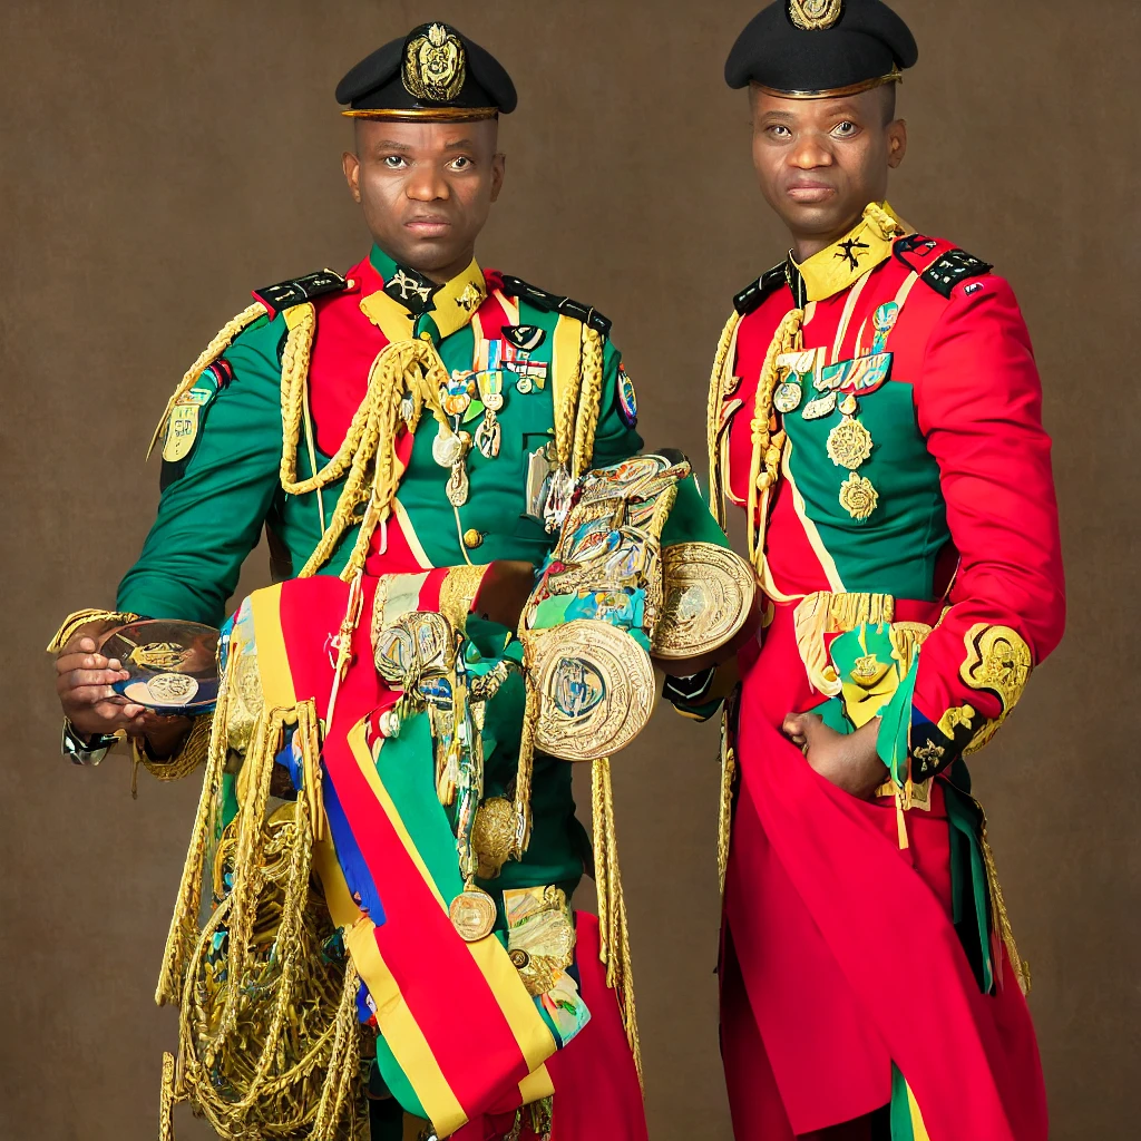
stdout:
<svg viewBox="0 0 1141 1141">
<path fill-rule="evenodd" d="M 539 690 L 535 744 L 565 761 L 609 756 L 638 736 L 654 712 L 649 654 L 624 630 L 575 618 L 527 636 Z"/>
</svg>

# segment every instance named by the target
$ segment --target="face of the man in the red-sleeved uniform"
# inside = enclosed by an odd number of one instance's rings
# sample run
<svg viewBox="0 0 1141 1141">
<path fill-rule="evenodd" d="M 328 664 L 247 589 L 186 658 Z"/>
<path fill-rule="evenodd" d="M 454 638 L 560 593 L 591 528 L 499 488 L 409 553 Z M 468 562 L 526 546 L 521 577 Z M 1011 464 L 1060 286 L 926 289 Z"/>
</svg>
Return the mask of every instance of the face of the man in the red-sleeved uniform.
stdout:
<svg viewBox="0 0 1141 1141">
<path fill-rule="evenodd" d="M 845 233 L 888 193 L 907 149 L 887 87 L 839 99 L 782 99 L 751 91 L 753 165 L 761 193 L 796 238 Z"/>
</svg>

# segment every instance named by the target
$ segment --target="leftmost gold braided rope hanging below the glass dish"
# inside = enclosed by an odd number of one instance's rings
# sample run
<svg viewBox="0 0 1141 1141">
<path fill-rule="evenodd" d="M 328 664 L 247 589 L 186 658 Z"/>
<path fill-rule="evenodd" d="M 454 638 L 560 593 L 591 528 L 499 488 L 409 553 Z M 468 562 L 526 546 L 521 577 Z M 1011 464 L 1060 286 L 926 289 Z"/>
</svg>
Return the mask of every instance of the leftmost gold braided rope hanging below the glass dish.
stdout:
<svg viewBox="0 0 1141 1141">
<path fill-rule="evenodd" d="M 207 770 L 202 780 L 202 794 L 199 798 L 194 826 L 191 830 L 191 845 L 183 865 L 183 876 L 178 884 L 178 896 L 175 900 L 175 913 L 170 920 L 170 931 L 167 934 L 167 946 L 162 955 L 162 966 L 159 971 L 159 986 L 154 1001 L 160 1005 L 178 1002 L 181 987 L 179 980 L 186 969 L 189 948 L 197 936 L 199 912 L 202 907 L 202 879 L 205 869 L 205 852 L 210 840 L 210 825 L 213 806 L 221 787 L 222 771 L 226 767 L 226 721 L 229 704 L 229 687 L 233 681 L 236 654 L 232 654 L 226 672 L 218 687 L 218 702 L 215 706 L 213 723 L 210 733 L 210 747 L 207 754 Z"/>
</svg>

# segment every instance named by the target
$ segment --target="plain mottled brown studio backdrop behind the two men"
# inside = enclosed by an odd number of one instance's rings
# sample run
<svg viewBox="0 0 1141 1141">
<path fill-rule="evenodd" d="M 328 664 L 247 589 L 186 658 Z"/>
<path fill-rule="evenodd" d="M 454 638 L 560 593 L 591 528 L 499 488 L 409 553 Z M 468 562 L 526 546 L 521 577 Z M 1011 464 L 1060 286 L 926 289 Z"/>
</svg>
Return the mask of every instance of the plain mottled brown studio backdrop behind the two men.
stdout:
<svg viewBox="0 0 1141 1141">
<path fill-rule="evenodd" d="M 365 250 L 338 169 L 337 79 L 428 17 L 503 59 L 521 102 L 503 123 L 509 179 L 482 259 L 612 315 L 647 442 L 699 463 L 729 299 L 782 253 L 744 96 L 720 78 L 755 2 L 2 6 L 0 1138 L 155 1135 L 175 1017 L 151 995 L 196 788 L 144 777 L 132 803 L 121 759 L 63 762 L 40 654 L 64 613 L 112 601 L 157 496 L 143 452 L 183 369 L 249 289 Z M 1053 1136 L 1114 1141 L 1134 1135 L 1141 1027 L 1141 406 L 1119 347 L 1141 285 L 1141 9 L 898 7 L 922 60 L 901 92 L 912 149 L 892 201 L 1013 281 L 1057 440 L 1069 633 L 976 771 L 1037 981 Z M 242 589 L 265 575 L 260 552 Z M 663 710 L 616 764 L 656 1141 L 730 1136 L 715 748 L 715 727 Z M 938 980 L 912 964 L 899 982 L 922 1019 Z M 937 1049 L 932 1063 L 953 1066 Z M 178 1127 L 208 1135 L 188 1115 Z"/>
</svg>

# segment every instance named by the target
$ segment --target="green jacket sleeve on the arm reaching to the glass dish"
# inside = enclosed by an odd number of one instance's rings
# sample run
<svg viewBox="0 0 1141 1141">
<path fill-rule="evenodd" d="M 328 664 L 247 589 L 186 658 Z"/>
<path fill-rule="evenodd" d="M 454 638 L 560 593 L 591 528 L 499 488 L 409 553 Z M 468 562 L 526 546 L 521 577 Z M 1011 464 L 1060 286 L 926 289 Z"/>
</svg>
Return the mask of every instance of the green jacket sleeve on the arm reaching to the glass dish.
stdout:
<svg viewBox="0 0 1141 1141">
<path fill-rule="evenodd" d="M 119 585 L 120 609 L 219 625 L 280 488 L 284 319 L 261 318 L 226 350 L 233 379 L 200 411 L 194 450 L 165 466 L 159 513 Z"/>
</svg>

